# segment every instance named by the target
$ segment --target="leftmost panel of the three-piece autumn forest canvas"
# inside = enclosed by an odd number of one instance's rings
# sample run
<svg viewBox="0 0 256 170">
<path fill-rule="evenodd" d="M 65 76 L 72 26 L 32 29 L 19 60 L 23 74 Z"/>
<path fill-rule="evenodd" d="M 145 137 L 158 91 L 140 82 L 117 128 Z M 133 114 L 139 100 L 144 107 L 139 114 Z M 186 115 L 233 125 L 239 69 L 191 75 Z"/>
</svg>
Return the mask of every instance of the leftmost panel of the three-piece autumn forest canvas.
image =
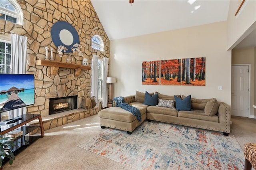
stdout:
<svg viewBox="0 0 256 170">
<path fill-rule="evenodd" d="M 160 61 L 142 62 L 142 84 L 159 85 L 159 66 Z"/>
</svg>

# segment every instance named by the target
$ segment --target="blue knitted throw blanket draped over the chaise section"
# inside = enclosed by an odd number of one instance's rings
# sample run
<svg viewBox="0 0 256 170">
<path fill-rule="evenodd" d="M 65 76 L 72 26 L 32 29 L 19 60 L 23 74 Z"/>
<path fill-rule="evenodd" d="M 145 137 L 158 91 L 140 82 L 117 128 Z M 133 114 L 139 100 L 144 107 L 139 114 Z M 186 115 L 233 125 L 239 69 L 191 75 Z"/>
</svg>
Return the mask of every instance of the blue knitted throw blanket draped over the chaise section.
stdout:
<svg viewBox="0 0 256 170">
<path fill-rule="evenodd" d="M 122 96 L 121 97 L 115 97 L 112 100 L 112 103 L 113 103 L 113 101 L 116 101 L 116 107 L 121 107 L 122 109 L 132 113 L 132 115 L 137 117 L 137 120 L 139 122 L 141 121 L 141 115 L 140 115 L 139 109 L 129 105 L 128 103 L 124 103 L 124 97 L 122 97 Z"/>
</svg>

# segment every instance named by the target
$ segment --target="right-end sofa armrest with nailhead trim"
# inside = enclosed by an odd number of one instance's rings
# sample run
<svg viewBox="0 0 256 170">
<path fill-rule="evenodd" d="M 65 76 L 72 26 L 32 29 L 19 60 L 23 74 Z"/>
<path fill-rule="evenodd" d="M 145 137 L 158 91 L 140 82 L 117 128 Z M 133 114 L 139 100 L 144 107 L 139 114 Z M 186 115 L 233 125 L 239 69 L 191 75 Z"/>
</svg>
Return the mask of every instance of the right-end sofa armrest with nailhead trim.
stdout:
<svg viewBox="0 0 256 170">
<path fill-rule="evenodd" d="M 226 124 L 226 128 L 228 131 L 230 131 L 230 106 L 228 106 L 224 102 L 219 102 L 220 106 L 218 109 L 218 117 L 219 117 L 219 122 L 221 124 Z"/>
</svg>

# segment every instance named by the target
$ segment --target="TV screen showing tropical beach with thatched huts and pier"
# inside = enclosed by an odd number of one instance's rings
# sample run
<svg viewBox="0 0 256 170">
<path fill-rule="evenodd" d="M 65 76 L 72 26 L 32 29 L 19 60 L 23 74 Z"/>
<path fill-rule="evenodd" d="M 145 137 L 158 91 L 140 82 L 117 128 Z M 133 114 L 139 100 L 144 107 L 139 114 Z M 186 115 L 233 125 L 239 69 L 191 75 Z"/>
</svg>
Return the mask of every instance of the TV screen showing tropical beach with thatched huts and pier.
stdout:
<svg viewBox="0 0 256 170">
<path fill-rule="evenodd" d="M 0 112 L 34 104 L 33 74 L 0 75 Z"/>
</svg>

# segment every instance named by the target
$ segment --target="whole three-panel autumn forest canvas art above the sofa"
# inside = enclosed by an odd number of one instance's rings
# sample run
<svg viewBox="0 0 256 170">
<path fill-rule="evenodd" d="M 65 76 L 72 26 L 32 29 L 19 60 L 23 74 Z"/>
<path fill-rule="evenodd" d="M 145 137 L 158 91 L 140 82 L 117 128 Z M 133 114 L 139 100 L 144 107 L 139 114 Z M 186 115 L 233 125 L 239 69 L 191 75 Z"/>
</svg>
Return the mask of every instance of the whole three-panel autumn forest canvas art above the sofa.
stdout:
<svg viewBox="0 0 256 170">
<path fill-rule="evenodd" d="M 205 65 L 205 57 L 143 61 L 142 84 L 205 86 Z"/>
</svg>

